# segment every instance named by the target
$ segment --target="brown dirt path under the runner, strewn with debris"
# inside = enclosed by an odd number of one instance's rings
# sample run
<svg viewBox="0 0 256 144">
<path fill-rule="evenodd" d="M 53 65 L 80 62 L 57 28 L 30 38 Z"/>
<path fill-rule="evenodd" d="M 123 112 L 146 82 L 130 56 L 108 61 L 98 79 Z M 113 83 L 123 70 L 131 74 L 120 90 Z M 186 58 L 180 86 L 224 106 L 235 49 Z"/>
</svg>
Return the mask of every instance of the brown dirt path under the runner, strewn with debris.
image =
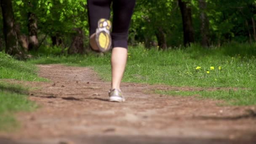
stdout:
<svg viewBox="0 0 256 144">
<path fill-rule="evenodd" d="M 125 103 L 108 102 L 109 82 L 89 68 L 40 65 L 50 83 L 30 99 L 42 107 L 20 113 L 21 129 L 1 133 L 0 144 L 255 143 L 256 107 L 217 106 L 195 97 L 148 94 L 155 89 L 192 90 L 123 83 Z"/>
</svg>

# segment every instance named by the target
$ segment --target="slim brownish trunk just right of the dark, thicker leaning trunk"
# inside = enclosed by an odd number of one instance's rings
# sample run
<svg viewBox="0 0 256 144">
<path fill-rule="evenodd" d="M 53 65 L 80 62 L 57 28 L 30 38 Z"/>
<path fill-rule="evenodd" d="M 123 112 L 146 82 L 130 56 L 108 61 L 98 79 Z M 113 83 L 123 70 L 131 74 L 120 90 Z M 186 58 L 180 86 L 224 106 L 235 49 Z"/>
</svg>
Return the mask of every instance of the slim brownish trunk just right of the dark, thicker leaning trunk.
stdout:
<svg viewBox="0 0 256 144">
<path fill-rule="evenodd" d="M 198 0 L 200 8 L 200 20 L 201 20 L 201 45 L 205 48 L 209 47 L 209 19 L 205 13 L 206 2 L 205 0 Z"/>
</svg>

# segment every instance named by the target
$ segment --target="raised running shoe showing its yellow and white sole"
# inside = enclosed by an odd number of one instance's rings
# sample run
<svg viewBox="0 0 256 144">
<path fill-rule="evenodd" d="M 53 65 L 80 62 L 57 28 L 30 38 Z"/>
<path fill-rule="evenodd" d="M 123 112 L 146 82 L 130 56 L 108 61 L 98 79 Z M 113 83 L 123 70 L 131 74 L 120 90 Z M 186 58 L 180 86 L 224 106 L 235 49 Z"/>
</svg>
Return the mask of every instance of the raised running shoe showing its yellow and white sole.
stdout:
<svg viewBox="0 0 256 144">
<path fill-rule="evenodd" d="M 108 19 L 100 19 L 96 29 L 96 43 L 100 52 L 109 51 L 112 44 L 110 36 L 111 22 Z"/>
</svg>

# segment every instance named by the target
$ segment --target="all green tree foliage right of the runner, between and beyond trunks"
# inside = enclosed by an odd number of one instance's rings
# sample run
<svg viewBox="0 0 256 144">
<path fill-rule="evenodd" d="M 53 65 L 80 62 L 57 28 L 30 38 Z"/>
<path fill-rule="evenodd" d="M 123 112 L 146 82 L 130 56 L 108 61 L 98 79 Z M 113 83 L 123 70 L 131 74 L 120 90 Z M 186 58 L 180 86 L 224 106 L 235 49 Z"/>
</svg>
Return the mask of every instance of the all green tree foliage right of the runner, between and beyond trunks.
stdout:
<svg viewBox="0 0 256 144">
<path fill-rule="evenodd" d="M 195 40 L 200 42 L 200 13 L 198 0 L 187 1 L 192 8 Z M 255 0 L 205 0 L 205 12 L 209 19 L 209 33 L 212 44 L 222 44 L 231 40 L 249 41 L 253 35 L 252 18 L 255 21 Z M 246 25 L 248 23 L 248 26 Z M 163 27 L 168 46 L 179 46 L 182 42 L 182 21 L 177 0 L 140 0 L 137 2 L 131 27 L 131 40 L 137 42 L 155 41 L 157 28 Z M 132 37 L 136 37 L 133 40 Z"/>
</svg>

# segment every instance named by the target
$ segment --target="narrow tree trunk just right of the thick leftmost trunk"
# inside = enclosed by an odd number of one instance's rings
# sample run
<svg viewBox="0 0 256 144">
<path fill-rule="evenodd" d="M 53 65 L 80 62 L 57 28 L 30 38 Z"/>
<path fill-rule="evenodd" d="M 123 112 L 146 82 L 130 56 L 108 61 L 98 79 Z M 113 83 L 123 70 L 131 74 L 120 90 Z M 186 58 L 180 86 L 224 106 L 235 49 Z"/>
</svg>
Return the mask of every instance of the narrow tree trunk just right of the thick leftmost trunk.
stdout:
<svg viewBox="0 0 256 144">
<path fill-rule="evenodd" d="M 28 29 L 29 29 L 29 51 L 37 51 L 37 19 L 35 13 L 28 13 Z"/>
</svg>

